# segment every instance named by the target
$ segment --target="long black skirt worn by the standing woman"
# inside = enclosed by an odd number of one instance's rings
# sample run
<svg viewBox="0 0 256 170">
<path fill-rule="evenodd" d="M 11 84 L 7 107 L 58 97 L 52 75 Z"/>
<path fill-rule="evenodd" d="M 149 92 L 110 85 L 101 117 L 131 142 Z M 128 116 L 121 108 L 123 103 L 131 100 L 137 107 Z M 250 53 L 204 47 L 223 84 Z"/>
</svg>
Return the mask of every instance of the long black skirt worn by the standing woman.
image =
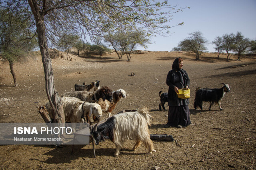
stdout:
<svg viewBox="0 0 256 170">
<path fill-rule="evenodd" d="M 186 127 L 191 124 L 188 105 L 169 106 L 168 125 Z"/>
</svg>

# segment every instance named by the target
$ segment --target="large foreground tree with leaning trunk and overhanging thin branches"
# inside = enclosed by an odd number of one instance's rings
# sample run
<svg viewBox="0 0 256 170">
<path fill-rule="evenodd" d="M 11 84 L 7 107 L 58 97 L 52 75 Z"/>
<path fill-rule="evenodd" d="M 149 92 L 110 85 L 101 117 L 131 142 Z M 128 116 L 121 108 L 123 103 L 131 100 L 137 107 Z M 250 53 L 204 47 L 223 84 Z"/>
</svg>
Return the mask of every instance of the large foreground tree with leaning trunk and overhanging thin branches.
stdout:
<svg viewBox="0 0 256 170">
<path fill-rule="evenodd" d="M 171 6 L 168 1 L 155 0 L 6 0 L 2 8 L 17 10 L 29 8 L 34 18 L 34 27 L 44 66 L 46 94 L 55 116 L 54 121 L 64 122 L 62 102 L 54 85 L 52 61 L 48 45 L 54 45 L 59 33 L 90 37 L 104 33 L 120 32 L 142 27 L 148 35 L 165 35 L 171 27 L 172 14 L 182 9 Z M 177 23 L 175 25 L 182 25 Z"/>
</svg>

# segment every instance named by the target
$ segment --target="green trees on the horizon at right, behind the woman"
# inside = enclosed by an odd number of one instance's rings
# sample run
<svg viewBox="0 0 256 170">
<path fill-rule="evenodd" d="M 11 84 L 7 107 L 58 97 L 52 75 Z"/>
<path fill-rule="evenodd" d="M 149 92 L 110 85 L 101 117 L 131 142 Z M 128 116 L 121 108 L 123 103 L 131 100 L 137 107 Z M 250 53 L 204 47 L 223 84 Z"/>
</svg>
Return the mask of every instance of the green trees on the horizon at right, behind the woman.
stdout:
<svg viewBox="0 0 256 170">
<path fill-rule="evenodd" d="M 196 60 L 199 60 L 199 56 L 207 51 L 206 45 L 208 44 L 208 40 L 200 31 L 189 33 L 188 35 L 172 51 L 192 51 L 196 54 Z M 227 61 L 231 57 L 230 52 L 237 54 L 238 61 L 240 61 L 241 56 L 245 53 L 256 53 L 256 40 L 245 38 L 241 32 L 217 36 L 212 41 L 212 44 L 215 45 L 214 49 L 218 52 L 217 58 L 219 59 L 220 53 L 225 51 L 227 53 Z"/>
</svg>

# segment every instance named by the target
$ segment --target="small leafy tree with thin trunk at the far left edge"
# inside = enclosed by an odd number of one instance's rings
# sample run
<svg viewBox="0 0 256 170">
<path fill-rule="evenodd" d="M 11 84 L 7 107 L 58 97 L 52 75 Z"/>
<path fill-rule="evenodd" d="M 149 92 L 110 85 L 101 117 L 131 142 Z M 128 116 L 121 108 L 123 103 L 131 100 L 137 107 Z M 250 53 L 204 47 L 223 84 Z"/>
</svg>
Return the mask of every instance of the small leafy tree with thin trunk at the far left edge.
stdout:
<svg viewBox="0 0 256 170">
<path fill-rule="evenodd" d="M 26 16 L 28 10 L 20 8 L 18 12 Z M 30 20 L 21 20 L 15 11 L 0 9 L 0 58 L 9 62 L 14 86 L 18 86 L 14 62 L 22 61 L 37 43 L 35 38 L 31 38 L 30 24 Z"/>
</svg>

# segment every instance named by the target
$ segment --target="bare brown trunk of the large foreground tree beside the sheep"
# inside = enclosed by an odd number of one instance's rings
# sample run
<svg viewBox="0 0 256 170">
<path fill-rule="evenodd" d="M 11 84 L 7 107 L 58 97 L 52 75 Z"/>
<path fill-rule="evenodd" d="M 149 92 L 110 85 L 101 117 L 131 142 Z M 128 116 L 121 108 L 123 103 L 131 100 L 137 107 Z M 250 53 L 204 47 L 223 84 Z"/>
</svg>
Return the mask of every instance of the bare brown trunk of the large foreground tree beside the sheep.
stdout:
<svg viewBox="0 0 256 170">
<path fill-rule="evenodd" d="M 36 3 L 36 0 L 28 0 L 31 10 L 36 19 L 36 28 L 38 34 L 38 43 L 40 52 L 42 55 L 42 63 L 44 66 L 44 78 L 45 88 L 48 100 L 52 109 L 54 110 L 53 123 L 64 123 L 65 115 L 63 111 L 62 101 L 55 89 L 54 76 L 52 70 L 52 60 L 48 50 L 48 44 L 46 40 L 45 24 L 44 24 L 44 11 L 40 11 L 40 7 Z"/>
</svg>

